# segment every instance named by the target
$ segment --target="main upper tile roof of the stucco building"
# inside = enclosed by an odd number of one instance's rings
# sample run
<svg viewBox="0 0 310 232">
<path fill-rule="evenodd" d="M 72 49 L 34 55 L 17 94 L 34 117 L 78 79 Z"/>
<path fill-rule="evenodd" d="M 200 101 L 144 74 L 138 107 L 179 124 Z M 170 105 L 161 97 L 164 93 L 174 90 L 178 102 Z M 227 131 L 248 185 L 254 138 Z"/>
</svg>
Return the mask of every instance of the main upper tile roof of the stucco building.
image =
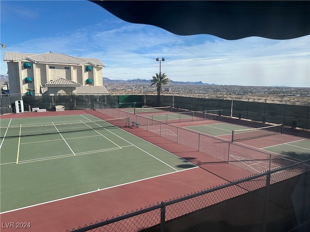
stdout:
<svg viewBox="0 0 310 232">
<path fill-rule="evenodd" d="M 81 58 L 72 57 L 62 53 L 46 52 L 42 54 L 19 53 L 19 52 L 4 52 L 3 61 L 19 61 L 30 59 L 35 63 L 55 63 L 55 64 L 73 64 L 82 65 L 91 63 L 94 66 L 105 67 L 105 65 L 97 58 Z"/>
</svg>

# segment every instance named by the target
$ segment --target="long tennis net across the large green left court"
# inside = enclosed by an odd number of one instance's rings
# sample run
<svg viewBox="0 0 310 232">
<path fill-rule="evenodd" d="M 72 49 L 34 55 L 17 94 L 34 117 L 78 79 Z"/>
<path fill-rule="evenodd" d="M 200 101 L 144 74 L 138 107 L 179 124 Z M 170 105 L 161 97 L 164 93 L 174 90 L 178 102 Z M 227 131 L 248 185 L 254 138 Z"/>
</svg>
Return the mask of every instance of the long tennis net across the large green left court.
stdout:
<svg viewBox="0 0 310 232">
<path fill-rule="evenodd" d="M 20 125 L 10 127 L 0 127 L 0 138 L 22 137 L 33 135 L 45 135 L 56 133 L 67 133 L 75 131 L 91 131 L 113 127 L 128 126 L 128 117 L 112 118 L 96 121 L 79 121 L 71 123 L 50 123 L 44 125 Z"/>
</svg>

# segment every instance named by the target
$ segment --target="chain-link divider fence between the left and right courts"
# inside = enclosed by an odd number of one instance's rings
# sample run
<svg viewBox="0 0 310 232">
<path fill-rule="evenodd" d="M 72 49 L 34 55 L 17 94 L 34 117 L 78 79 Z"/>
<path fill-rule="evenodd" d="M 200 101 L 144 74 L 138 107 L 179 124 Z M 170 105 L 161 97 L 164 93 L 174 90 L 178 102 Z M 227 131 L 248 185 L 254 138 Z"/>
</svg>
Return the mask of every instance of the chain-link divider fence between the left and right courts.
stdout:
<svg viewBox="0 0 310 232">
<path fill-rule="evenodd" d="M 186 145 L 206 155 L 217 158 L 218 160 L 245 169 L 253 174 L 285 167 L 294 162 L 291 159 L 286 159 L 284 157 L 279 158 L 279 156 L 263 152 L 262 150 L 252 149 L 244 145 L 232 143 L 231 140 L 228 141 L 196 131 L 191 131 L 186 128 L 180 128 L 173 124 L 163 123 L 155 120 L 152 115 L 140 116 L 121 109 L 102 109 L 100 108 L 100 105 L 97 105 L 97 107 L 99 108 L 96 108 L 96 110 L 103 114 L 114 118 L 128 117 L 129 121 L 138 122 L 139 127 L 146 131 L 156 133 L 175 143 Z M 194 115 L 192 116 L 195 117 Z M 204 117 L 200 117 L 200 119 L 209 120 Z M 191 119 L 189 120 L 191 121 Z M 256 167 L 253 164 L 248 165 L 248 163 L 253 162 L 253 160 L 260 162 L 260 165 L 257 165 Z"/>
</svg>

